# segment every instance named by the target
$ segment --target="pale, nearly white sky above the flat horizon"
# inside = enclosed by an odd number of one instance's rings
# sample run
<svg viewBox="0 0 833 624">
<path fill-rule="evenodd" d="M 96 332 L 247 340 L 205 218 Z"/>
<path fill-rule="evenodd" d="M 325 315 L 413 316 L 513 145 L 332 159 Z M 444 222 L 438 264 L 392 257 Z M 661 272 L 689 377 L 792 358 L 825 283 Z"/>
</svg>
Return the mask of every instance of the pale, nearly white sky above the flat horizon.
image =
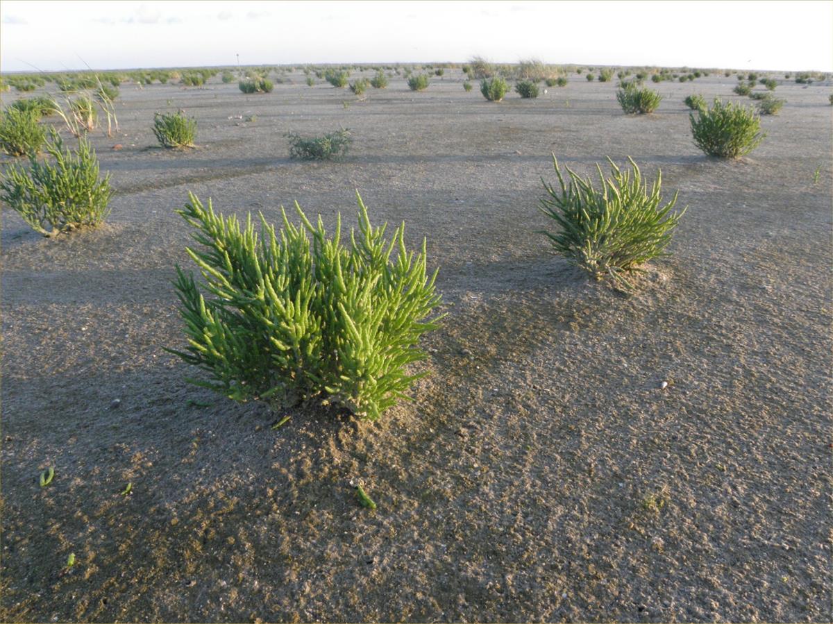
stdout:
<svg viewBox="0 0 833 624">
<path fill-rule="evenodd" d="M 5 72 L 316 62 L 833 71 L 833 2 L 0 2 Z"/>
</svg>

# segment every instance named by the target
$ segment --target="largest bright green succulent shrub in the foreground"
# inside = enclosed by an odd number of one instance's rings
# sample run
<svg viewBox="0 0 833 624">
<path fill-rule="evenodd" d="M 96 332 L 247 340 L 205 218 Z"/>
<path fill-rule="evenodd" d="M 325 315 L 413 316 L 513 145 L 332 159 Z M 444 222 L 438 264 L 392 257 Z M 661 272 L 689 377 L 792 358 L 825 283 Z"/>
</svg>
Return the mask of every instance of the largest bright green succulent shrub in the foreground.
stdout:
<svg viewBox="0 0 833 624">
<path fill-rule="evenodd" d="M 408 367 L 425 359 L 421 335 L 440 302 L 436 272 L 426 275 L 421 253 L 407 252 L 404 223 L 392 240 L 372 227 L 359 202 L 359 231 L 327 237 L 296 204 L 300 225 L 282 209 L 283 229 L 261 216 L 216 214 L 197 197 L 177 211 L 196 228 L 200 247 L 188 248 L 205 280 L 177 267 L 177 294 L 187 351 L 179 357 L 208 373 L 189 380 L 235 399 L 261 399 L 273 407 L 303 401 L 333 403 L 376 420 L 426 372 Z M 392 257 L 393 252 L 393 257 Z"/>
</svg>

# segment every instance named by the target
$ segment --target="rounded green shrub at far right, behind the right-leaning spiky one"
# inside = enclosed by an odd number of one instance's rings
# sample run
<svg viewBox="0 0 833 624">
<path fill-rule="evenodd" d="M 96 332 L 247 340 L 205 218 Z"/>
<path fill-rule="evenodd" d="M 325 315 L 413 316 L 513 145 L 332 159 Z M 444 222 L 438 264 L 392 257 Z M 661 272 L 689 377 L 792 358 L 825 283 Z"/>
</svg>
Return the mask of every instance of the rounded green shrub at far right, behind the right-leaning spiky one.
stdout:
<svg viewBox="0 0 833 624">
<path fill-rule="evenodd" d="M 697 147 L 709 156 L 740 158 L 761 144 L 761 117 L 753 107 L 724 104 L 715 98 L 711 107 L 689 114 L 691 134 Z"/>
</svg>

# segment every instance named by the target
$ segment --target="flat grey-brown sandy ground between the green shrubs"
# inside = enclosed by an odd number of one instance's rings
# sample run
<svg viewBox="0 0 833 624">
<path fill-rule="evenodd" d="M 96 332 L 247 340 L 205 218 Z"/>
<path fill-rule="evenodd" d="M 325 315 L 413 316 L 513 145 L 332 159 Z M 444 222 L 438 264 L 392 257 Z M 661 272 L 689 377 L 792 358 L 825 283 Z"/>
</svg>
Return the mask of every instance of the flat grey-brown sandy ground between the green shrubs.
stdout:
<svg viewBox="0 0 833 624">
<path fill-rule="evenodd" d="M 778 87 L 766 141 L 721 162 L 682 99 L 740 100 L 734 76 L 661 83 L 659 111 L 627 117 L 611 83 L 495 104 L 448 73 L 363 102 L 300 74 L 257 96 L 124 85 L 122 136 L 93 137 L 107 225 L 47 240 L 4 209 L 0 619 L 833 619 L 831 87 Z M 154 147 L 153 112 L 177 107 L 195 150 Z M 288 159 L 285 132 L 342 125 L 344 162 Z M 636 293 L 535 233 L 551 152 L 580 172 L 631 155 L 680 189 L 674 255 Z M 355 222 L 356 188 L 441 267 L 415 401 L 273 431 L 283 412 L 188 385 L 162 351 L 184 342 L 187 191 L 332 226 Z"/>
</svg>

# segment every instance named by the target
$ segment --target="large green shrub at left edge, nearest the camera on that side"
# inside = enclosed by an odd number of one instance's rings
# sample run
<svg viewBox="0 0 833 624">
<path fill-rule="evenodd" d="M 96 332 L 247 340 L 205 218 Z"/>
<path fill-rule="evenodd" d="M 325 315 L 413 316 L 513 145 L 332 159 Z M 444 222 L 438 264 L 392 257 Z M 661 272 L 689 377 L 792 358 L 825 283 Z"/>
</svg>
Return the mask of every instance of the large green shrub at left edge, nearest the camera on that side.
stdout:
<svg viewBox="0 0 833 624">
<path fill-rule="evenodd" d="M 72 152 L 53 130 L 45 151 L 54 164 L 30 154 L 28 168 L 15 163 L 6 167 L 0 201 L 47 237 L 103 222 L 110 213 L 110 176 L 99 179 L 96 152 L 87 138 L 80 137 Z"/>
</svg>

